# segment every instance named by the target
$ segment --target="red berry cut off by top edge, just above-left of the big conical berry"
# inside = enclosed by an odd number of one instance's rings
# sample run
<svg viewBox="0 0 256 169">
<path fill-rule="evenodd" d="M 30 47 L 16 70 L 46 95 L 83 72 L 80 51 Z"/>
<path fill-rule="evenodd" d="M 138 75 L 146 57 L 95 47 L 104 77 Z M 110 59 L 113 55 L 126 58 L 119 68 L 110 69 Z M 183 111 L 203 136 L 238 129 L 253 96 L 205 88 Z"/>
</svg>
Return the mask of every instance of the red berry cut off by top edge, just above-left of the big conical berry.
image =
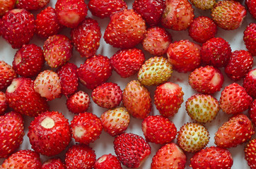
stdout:
<svg viewBox="0 0 256 169">
<path fill-rule="evenodd" d="M 88 8 L 93 15 L 99 18 L 107 18 L 113 13 L 127 9 L 127 4 L 124 0 L 91 0 Z"/>
</svg>

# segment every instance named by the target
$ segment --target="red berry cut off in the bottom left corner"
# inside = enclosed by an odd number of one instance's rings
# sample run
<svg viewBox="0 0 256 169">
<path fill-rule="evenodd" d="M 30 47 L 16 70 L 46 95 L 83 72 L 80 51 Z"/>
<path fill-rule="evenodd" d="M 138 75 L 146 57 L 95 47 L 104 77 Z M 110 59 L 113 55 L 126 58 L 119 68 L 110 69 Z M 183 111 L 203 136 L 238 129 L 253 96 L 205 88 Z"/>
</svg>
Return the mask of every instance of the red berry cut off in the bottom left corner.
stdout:
<svg viewBox="0 0 256 169">
<path fill-rule="evenodd" d="M 2 169 L 10 169 L 13 168 L 13 166 L 19 169 L 40 169 L 42 163 L 39 154 L 27 149 L 17 151 L 16 153 L 11 154 L 11 156 L 8 156 L 0 167 Z"/>
</svg>

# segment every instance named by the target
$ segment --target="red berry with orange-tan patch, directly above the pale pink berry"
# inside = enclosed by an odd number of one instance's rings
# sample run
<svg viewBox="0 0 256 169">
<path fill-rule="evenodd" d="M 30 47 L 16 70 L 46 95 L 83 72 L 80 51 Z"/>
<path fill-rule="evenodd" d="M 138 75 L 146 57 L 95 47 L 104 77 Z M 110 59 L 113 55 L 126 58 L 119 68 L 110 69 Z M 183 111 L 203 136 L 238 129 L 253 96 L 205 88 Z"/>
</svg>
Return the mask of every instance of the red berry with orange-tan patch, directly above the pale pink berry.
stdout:
<svg viewBox="0 0 256 169">
<path fill-rule="evenodd" d="M 43 46 L 45 61 L 51 68 L 57 68 L 69 61 L 72 50 L 71 40 L 65 35 L 52 35 Z"/>
</svg>

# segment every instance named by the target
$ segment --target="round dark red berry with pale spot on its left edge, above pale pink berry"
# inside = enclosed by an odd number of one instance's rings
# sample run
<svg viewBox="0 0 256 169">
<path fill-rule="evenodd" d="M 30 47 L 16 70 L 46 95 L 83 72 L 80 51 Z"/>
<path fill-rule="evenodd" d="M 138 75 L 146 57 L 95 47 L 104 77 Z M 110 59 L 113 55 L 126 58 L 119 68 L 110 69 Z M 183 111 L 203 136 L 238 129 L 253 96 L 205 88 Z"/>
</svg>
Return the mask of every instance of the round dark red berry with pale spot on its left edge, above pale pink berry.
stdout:
<svg viewBox="0 0 256 169">
<path fill-rule="evenodd" d="M 35 44 L 23 44 L 13 58 L 13 70 L 23 77 L 38 75 L 44 64 L 42 49 Z"/>
</svg>

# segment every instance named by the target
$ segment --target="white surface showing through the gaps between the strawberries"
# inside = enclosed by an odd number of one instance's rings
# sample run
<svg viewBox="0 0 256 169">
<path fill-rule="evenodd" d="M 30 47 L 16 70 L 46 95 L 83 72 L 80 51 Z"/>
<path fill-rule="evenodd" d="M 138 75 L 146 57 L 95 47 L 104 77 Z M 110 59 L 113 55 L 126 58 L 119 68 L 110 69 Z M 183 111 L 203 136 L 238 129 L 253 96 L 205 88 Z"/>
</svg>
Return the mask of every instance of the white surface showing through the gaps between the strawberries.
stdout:
<svg viewBox="0 0 256 169">
<path fill-rule="evenodd" d="M 126 0 L 126 2 L 128 5 L 128 8 L 129 9 L 132 8 L 133 1 Z M 56 0 L 51 0 L 49 6 L 54 7 L 55 3 L 56 3 Z M 86 0 L 86 4 L 88 4 L 88 0 Z M 209 16 L 210 11 L 200 11 L 197 8 L 195 8 L 194 6 L 193 6 L 193 8 L 195 9 L 196 17 L 199 15 Z M 38 12 L 39 11 L 35 12 L 34 14 L 36 15 Z M 101 27 L 102 37 L 100 39 L 100 48 L 98 49 L 97 54 L 102 54 L 103 56 L 107 56 L 110 58 L 113 54 L 115 54 L 115 52 L 117 50 L 119 50 L 117 48 L 112 48 L 112 46 L 110 46 L 109 44 L 106 44 L 103 39 L 105 27 L 107 26 L 107 23 L 110 21 L 110 19 L 109 18 L 105 18 L 105 19 L 97 18 L 95 16 L 92 16 L 90 11 L 88 11 L 87 17 L 91 17 L 95 20 L 98 20 L 98 23 Z M 244 42 L 243 42 L 243 31 L 245 30 L 245 27 L 249 23 L 252 23 L 252 22 L 255 23 L 256 20 L 252 18 L 250 13 L 248 13 L 247 16 L 245 17 L 245 20 L 243 21 L 243 25 L 241 25 L 241 27 L 239 27 L 237 30 L 223 30 L 218 27 L 218 33 L 217 33 L 216 37 L 222 37 L 223 39 L 226 39 L 226 41 L 228 41 L 231 44 L 232 51 L 246 49 Z M 173 31 L 173 30 L 168 30 L 168 31 L 170 32 L 170 34 L 173 37 L 173 42 L 178 41 L 180 39 L 190 39 L 190 41 L 192 41 L 192 39 L 188 36 L 187 30 L 180 31 L 180 32 Z M 70 29 L 66 28 L 61 32 L 61 34 L 64 34 L 64 35 L 70 37 L 69 32 L 70 32 Z M 33 40 L 30 43 L 35 43 L 38 46 L 42 46 L 44 41 L 45 41 L 45 39 L 39 39 L 35 35 Z M 142 49 L 141 44 L 139 44 L 137 47 L 139 49 Z M 6 63 L 11 65 L 12 61 L 13 61 L 13 56 L 16 53 L 16 51 L 17 51 L 16 49 L 12 49 L 11 45 L 8 44 L 7 42 L 5 42 L 5 40 L 2 37 L 0 37 L 0 60 L 6 61 Z M 144 54 L 146 56 L 146 59 L 152 57 L 152 55 L 146 51 L 144 51 Z M 75 49 L 74 49 L 74 56 L 72 56 L 70 62 L 76 63 L 76 65 L 78 65 L 78 67 L 79 67 L 80 64 L 83 63 L 85 60 L 86 60 L 86 58 L 81 58 L 79 56 L 78 52 L 75 51 Z M 256 68 L 256 61 L 254 61 L 253 68 Z M 47 65 L 45 65 L 44 69 L 49 69 L 49 67 L 47 67 Z M 223 84 L 223 87 L 225 87 L 226 85 L 231 84 L 232 81 L 225 75 L 223 68 L 221 68 L 221 71 L 225 78 L 224 84 Z M 178 130 L 180 129 L 180 127 L 183 124 L 192 121 L 185 111 L 185 101 L 187 101 L 187 99 L 190 96 L 192 96 L 192 94 L 194 94 L 196 92 L 194 92 L 194 90 L 188 84 L 188 75 L 189 75 L 189 73 L 177 73 L 176 71 L 174 71 L 172 77 L 169 80 L 170 82 L 179 84 L 180 87 L 182 87 L 182 91 L 185 93 L 185 95 L 183 97 L 184 102 L 183 102 L 181 108 L 179 109 L 178 113 L 173 118 L 170 118 L 170 120 L 172 120 L 175 123 L 175 126 L 177 127 Z M 107 82 L 115 82 L 120 85 L 121 89 L 124 89 L 124 87 L 126 86 L 126 84 L 128 82 L 130 82 L 131 80 L 136 80 L 136 79 L 137 79 L 136 75 L 126 78 L 126 79 L 121 78 L 113 70 L 112 76 L 110 77 L 109 80 L 107 80 Z M 242 80 L 238 81 L 238 84 L 243 84 L 243 81 Z M 151 98 L 152 98 L 152 103 L 153 103 L 153 92 L 155 91 L 156 87 L 147 87 L 147 88 L 151 91 Z M 79 84 L 79 89 L 87 92 L 91 96 L 92 91 L 89 89 L 86 89 L 86 87 L 83 87 L 83 85 Z M 214 94 L 216 99 L 219 100 L 220 94 L 221 94 L 221 92 L 217 92 L 216 94 Z M 62 96 L 62 98 L 60 98 L 60 99 L 54 99 L 53 101 L 50 101 L 49 104 L 50 104 L 50 111 L 62 112 L 65 115 L 65 117 L 69 119 L 69 122 L 74 117 L 74 114 L 70 113 L 66 109 L 66 97 L 65 96 Z M 120 106 L 122 106 L 122 104 Z M 98 115 L 98 117 L 100 117 L 100 115 L 105 111 L 107 111 L 106 108 L 100 108 L 99 106 L 95 105 L 93 103 L 93 100 L 91 99 L 91 106 L 88 108 L 88 112 L 95 113 L 95 115 Z M 158 114 L 159 113 L 156 110 L 156 107 L 153 105 L 151 115 L 158 115 Z M 245 111 L 245 114 L 248 114 L 248 111 Z M 206 128 L 209 130 L 209 134 L 210 134 L 210 142 L 209 142 L 209 144 L 207 144 L 207 146 L 215 145 L 214 144 L 214 133 L 218 130 L 218 128 L 224 122 L 226 122 L 226 120 L 228 120 L 228 118 L 230 116 L 231 115 L 226 115 L 222 111 L 219 111 L 219 114 L 216 116 L 216 119 L 214 121 L 212 121 L 211 123 L 207 123 L 205 125 Z M 21 145 L 20 149 L 31 149 L 30 143 L 29 143 L 29 140 L 27 137 L 28 125 L 30 124 L 31 120 L 33 120 L 33 118 L 25 117 L 25 136 L 24 136 L 23 144 Z M 141 122 L 142 122 L 142 120 L 138 120 L 138 119 L 131 117 L 127 132 L 133 132 L 134 134 L 139 134 L 142 137 L 144 137 L 143 132 L 141 131 Z M 253 135 L 252 138 L 255 138 L 255 135 Z M 92 144 L 90 144 L 90 146 L 95 150 L 95 154 L 96 154 L 97 158 L 99 158 L 103 154 L 114 154 L 115 155 L 115 151 L 113 149 L 113 144 L 112 144 L 113 141 L 114 141 L 114 138 L 103 131 L 102 134 L 100 135 L 100 139 L 98 139 L 95 142 L 93 142 Z M 176 142 L 176 139 L 173 142 Z M 70 146 L 72 144 L 74 144 L 73 139 L 72 139 Z M 151 145 L 151 156 L 149 156 L 149 158 L 145 161 L 145 163 L 143 165 L 141 165 L 140 168 L 144 168 L 144 169 L 150 168 L 151 159 L 156 154 L 156 151 L 162 146 L 162 145 L 153 144 L 153 143 L 149 143 L 149 144 Z M 233 167 L 232 167 L 233 169 L 249 168 L 247 165 L 247 162 L 244 159 L 244 153 L 243 153 L 244 146 L 245 146 L 245 144 L 242 144 L 235 148 L 229 149 L 233 156 Z M 64 160 L 65 152 L 66 152 L 66 150 L 63 151 L 62 154 L 58 155 L 63 160 Z M 186 168 L 190 168 L 188 165 L 190 163 L 191 157 L 192 157 L 192 154 L 187 154 Z M 42 163 L 47 158 L 49 158 L 49 157 L 41 156 Z M 4 158 L 0 158 L 0 164 L 3 163 L 3 161 L 4 161 Z M 126 168 L 126 167 L 124 167 L 124 165 L 122 165 L 122 167 Z"/>
</svg>

